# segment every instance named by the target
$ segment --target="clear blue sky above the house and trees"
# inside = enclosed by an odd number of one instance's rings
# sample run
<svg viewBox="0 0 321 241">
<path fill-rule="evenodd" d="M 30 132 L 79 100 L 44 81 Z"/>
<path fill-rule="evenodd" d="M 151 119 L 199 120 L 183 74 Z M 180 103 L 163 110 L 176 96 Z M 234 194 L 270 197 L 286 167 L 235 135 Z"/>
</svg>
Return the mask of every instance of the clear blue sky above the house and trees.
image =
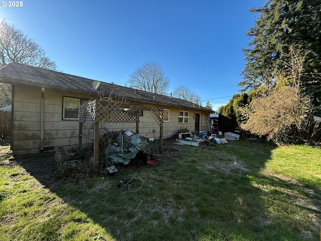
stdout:
<svg viewBox="0 0 321 241">
<path fill-rule="evenodd" d="M 262 0 L 26 0 L 0 17 L 34 39 L 61 71 L 125 85 L 143 63 L 162 66 L 170 92 L 180 85 L 217 110 L 238 93 Z M 228 97 L 226 97 L 228 96 Z M 225 98 L 222 98 L 225 97 Z"/>
</svg>

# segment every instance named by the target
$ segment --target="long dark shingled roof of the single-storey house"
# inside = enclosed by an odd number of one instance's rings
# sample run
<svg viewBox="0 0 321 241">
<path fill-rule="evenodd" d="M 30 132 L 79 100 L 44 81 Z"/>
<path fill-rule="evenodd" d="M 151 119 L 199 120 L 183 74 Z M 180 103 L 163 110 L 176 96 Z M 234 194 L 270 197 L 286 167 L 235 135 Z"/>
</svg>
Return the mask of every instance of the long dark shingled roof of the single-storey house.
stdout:
<svg viewBox="0 0 321 241">
<path fill-rule="evenodd" d="M 135 89 L 116 84 L 100 82 L 16 62 L 9 63 L 0 69 L 0 82 L 28 84 L 91 94 L 101 93 L 105 97 L 124 97 L 126 100 L 211 111 L 211 109 L 187 100 L 142 90 L 135 91 Z"/>
</svg>

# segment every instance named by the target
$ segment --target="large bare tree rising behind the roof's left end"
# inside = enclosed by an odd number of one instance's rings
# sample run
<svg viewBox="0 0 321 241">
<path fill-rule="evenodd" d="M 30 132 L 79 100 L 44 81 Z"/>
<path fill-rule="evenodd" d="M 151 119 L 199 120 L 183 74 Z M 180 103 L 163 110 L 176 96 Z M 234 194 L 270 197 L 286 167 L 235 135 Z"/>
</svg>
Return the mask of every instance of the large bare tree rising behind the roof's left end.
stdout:
<svg viewBox="0 0 321 241">
<path fill-rule="evenodd" d="M 33 39 L 3 19 L 0 22 L 0 67 L 10 62 L 57 69 L 56 63 L 46 56 L 45 51 Z"/>
</svg>

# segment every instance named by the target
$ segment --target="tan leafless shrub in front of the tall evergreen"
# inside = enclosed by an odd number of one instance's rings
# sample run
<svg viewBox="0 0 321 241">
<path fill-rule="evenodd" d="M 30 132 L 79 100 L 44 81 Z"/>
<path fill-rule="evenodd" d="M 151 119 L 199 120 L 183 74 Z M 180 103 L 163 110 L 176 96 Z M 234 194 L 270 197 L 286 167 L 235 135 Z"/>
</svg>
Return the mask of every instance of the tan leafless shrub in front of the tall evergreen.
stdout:
<svg viewBox="0 0 321 241">
<path fill-rule="evenodd" d="M 267 88 L 241 109 L 248 118 L 241 125 L 243 129 L 268 139 L 273 139 L 286 126 L 300 130 L 304 110 L 310 107 L 309 98 L 302 95 L 300 83 L 306 54 L 297 46 L 290 47 L 289 61 L 283 62 L 289 72 L 288 77 L 284 74 L 277 76 L 272 88 Z"/>
</svg>

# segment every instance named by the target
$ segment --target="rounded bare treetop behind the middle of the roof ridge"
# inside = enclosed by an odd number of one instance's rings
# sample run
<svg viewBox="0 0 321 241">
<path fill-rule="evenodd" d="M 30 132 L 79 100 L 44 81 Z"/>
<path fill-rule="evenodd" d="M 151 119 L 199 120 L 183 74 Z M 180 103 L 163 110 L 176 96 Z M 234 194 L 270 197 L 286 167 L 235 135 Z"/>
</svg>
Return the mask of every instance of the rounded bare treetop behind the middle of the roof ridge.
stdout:
<svg viewBox="0 0 321 241">
<path fill-rule="evenodd" d="M 170 80 L 164 76 L 161 66 L 154 62 L 146 62 L 130 75 L 128 83 L 131 88 L 166 95 Z"/>
</svg>

